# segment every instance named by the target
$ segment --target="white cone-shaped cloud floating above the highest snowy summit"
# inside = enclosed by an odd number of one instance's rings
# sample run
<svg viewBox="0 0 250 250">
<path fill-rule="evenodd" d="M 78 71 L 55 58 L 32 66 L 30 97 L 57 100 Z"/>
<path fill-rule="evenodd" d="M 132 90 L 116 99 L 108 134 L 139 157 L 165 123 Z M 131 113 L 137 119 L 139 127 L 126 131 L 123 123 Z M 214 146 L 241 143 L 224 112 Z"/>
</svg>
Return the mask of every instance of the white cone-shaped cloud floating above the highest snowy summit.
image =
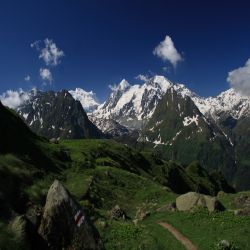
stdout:
<svg viewBox="0 0 250 250">
<path fill-rule="evenodd" d="M 166 36 L 165 39 L 155 47 L 153 54 L 160 57 L 163 61 L 169 61 L 174 67 L 177 66 L 178 62 L 183 60 L 170 36 Z"/>
</svg>

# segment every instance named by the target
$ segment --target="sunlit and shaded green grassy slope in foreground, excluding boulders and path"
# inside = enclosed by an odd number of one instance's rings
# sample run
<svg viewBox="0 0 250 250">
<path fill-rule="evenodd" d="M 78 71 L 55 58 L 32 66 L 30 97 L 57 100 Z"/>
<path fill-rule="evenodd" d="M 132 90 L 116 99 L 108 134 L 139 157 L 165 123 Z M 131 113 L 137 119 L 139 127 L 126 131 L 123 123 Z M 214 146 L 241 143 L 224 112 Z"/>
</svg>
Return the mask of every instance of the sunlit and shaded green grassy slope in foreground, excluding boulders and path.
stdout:
<svg viewBox="0 0 250 250">
<path fill-rule="evenodd" d="M 249 248 L 249 217 L 234 216 L 230 211 L 157 212 L 175 201 L 176 193 L 201 187 L 204 192 L 216 193 L 224 188 L 223 180 L 215 181 L 198 163 L 184 168 L 111 140 L 65 140 L 51 144 L 27 130 L 9 110 L 5 112 L 5 119 L 13 119 L 13 130 L 18 128 L 19 133 L 1 134 L 3 140 L 12 138 L 17 144 L 3 141 L 6 148 L 0 153 L 0 249 L 27 249 L 9 222 L 17 214 L 42 208 L 55 178 L 86 209 L 106 249 L 183 249 L 157 225 L 159 220 L 173 224 L 200 249 L 212 249 L 221 239 L 234 241 L 240 249 Z M 22 143 L 23 140 L 26 141 Z M 39 153 L 34 155 L 32 148 Z M 226 208 L 232 209 L 230 200 L 236 195 L 225 194 L 220 199 Z M 109 211 L 115 205 L 124 210 L 126 220 L 110 218 Z M 136 223 L 138 210 L 150 215 Z"/>
</svg>

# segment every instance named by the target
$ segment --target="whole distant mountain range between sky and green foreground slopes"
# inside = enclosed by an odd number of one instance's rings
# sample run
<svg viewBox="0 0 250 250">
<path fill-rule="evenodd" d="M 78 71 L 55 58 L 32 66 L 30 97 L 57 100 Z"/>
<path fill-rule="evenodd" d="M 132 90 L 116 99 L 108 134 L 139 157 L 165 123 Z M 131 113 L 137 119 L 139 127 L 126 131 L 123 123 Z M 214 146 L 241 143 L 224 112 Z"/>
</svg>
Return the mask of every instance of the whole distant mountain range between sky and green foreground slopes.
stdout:
<svg viewBox="0 0 250 250">
<path fill-rule="evenodd" d="M 238 188 L 250 188 L 250 98 L 233 89 L 203 98 L 154 76 L 141 85 L 122 80 L 102 104 L 80 88 L 20 95 L 16 110 L 40 135 L 123 138 L 183 164 L 199 160 Z"/>
</svg>

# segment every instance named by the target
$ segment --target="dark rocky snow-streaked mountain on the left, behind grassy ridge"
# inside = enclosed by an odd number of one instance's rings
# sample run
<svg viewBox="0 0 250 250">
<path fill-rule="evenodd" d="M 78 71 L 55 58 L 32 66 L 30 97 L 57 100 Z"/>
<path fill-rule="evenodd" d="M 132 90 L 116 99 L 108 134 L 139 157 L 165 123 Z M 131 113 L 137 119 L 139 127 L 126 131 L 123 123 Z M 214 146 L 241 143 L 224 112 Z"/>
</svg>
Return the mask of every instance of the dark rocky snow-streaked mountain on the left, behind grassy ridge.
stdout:
<svg viewBox="0 0 250 250">
<path fill-rule="evenodd" d="M 88 119 L 81 103 L 71 94 L 37 92 L 18 107 L 26 124 L 39 135 L 48 138 L 101 138 L 101 131 Z"/>
</svg>

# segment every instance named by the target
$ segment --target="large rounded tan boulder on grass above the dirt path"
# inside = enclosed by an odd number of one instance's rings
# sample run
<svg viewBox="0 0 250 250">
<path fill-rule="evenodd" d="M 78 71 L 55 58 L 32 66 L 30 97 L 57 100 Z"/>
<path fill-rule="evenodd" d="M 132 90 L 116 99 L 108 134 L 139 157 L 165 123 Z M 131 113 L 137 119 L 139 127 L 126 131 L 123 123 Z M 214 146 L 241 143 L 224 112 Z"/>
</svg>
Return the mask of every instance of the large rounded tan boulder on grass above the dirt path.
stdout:
<svg viewBox="0 0 250 250">
<path fill-rule="evenodd" d="M 189 192 L 176 198 L 176 208 L 179 211 L 192 211 L 195 208 L 207 208 L 208 211 L 222 210 L 222 204 L 216 197 Z"/>
</svg>

